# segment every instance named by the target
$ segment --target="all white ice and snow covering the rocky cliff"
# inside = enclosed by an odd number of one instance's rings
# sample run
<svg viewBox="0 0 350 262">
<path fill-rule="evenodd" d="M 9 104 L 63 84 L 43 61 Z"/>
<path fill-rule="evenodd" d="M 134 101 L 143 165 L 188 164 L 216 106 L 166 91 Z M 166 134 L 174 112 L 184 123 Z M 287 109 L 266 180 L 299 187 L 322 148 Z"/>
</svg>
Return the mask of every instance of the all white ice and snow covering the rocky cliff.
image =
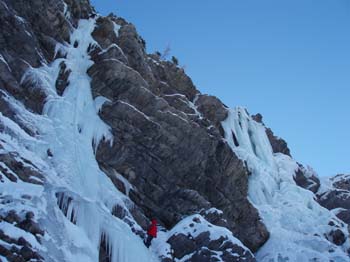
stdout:
<svg viewBox="0 0 350 262">
<path fill-rule="evenodd" d="M 64 14 L 70 16 L 65 3 Z M 118 37 L 120 26 L 114 24 L 114 27 Z M 30 68 L 23 76 L 22 83 L 31 83 L 46 92 L 48 98 L 43 115 L 33 114 L 12 97 L 5 96 L 18 112 L 16 117 L 37 135 L 29 135 L 18 123 L 0 112 L 0 124 L 5 127 L 0 133 L 0 153 L 19 152 L 17 160 L 23 162 L 21 159 L 30 159 L 45 174 L 45 181 L 44 185 L 25 183 L 20 179 L 11 182 L 2 174 L 0 197 L 7 202 L 6 205 L 0 203 L 0 210 L 1 213 L 15 210 L 22 218 L 27 211 L 32 211 L 46 232 L 42 243 L 39 243 L 33 235 L 7 222 L 0 222 L 0 229 L 13 238 L 27 239 L 47 261 L 98 261 L 102 238 L 106 240 L 112 262 L 158 261 L 159 256 L 170 257 L 171 249 L 166 241 L 170 236 L 180 233 L 196 237 L 202 232 L 209 232 L 211 240 L 226 236 L 246 249 L 228 229 L 214 226 L 200 215 L 193 215 L 184 218 L 172 230 L 159 232 L 148 250 L 129 225 L 112 215 L 117 205 L 128 210 L 132 204 L 128 195 L 133 186 L 116 172 L 126 188 L 126 195 L 119 192 L 100 170 L 95 158 L 100 141 L 112 144 L 114 137 L 110 127 L 98 115 L 103 104 L 110 100 L 102 96 L 93 99 L 91 79 L 86 73 L 93 65 L 87 54 L 88 47 L 98 45 L 91 37 L 94 28 L 94 19 L 79 21 L 70 41 L 78 42 L 77 48 L 70 44 L 58 44 L 55 53 L 64 53 L 66 58 L 56 59 L 40 68 Z M 106 51 L 108 49 L 102 52 Z M 0 60 L 7 65 L 1 54 Z M 65 62 L 67 70 L 71 71 L 69 85 L 63 96 L 59 96 L 55 88 L 61 62 Z M 154 95 L 147 88 L 144 89 Z M 197 99 L 198 96 L 193 102 L 187 98 L 185 101 L 202 118 L 195 106 Z M 119 102 L 153 122 L 136 107 L 124 101 Z M 173 112 L 163 113 L 187 122 Z M 310 191 L 295 185 L 293 175 L 298 168 L 297 163 L 289 156 L 273 154 L 265 127 L 253 121 L 243 108 L 231 110 L 222 126 L 227 143 L 248 164 L 252 173 L 249 179 L 249 200 L 259 210 L 271 234 L 268 242 L 256 254 L 258 261 L 283 261 L 285 257 L 289 261 L 307 261 L 310 258 L 348 261 L 342 247 L 323 238 L 332 229 L 328 225 L 330 220 L 335 221 L 348 235 L 343 223 L 335 217 L 339 210 L 330 212 L 322 208 Z M 52 157 L 47 156 L 48 149 Z M 4 163 L 0 165 L 18 178 Z M 307 175 L 311 176 L 312 172 L 310 170 Z M 24 195 L 29 198 L 24 198 Z M 60 196 L 59 199 L 57 196 Z M 216 208 L 206 212 L 222 213 Z M 133 220 L 131 214 L 128 217 Z M 201 223 L 190 227 L 194 218 Z M 140 229 L 136 222 L 135 227 Z M 349 246 L 347 240 L 343 248 Z M 329 253 L 329 250 L 334 252 Z M 1 256 L 0 259 L 6 261 Z"/>
</svg>

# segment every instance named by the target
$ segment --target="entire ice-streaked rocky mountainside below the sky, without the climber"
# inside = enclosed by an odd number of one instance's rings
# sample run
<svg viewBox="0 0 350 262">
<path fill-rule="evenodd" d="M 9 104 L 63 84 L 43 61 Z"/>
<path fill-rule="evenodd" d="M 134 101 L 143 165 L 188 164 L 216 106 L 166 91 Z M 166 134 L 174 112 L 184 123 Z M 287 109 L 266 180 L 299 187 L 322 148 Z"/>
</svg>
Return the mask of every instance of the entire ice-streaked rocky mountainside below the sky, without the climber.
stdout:
<svg viewBox="0 0 350 262">
<path fill-rule="evenodd" d="M 0 0 L 0 28 L 0 261 L 350 261 L 349 176 L 321 183 L 131 23 Z"/>
</svg>

